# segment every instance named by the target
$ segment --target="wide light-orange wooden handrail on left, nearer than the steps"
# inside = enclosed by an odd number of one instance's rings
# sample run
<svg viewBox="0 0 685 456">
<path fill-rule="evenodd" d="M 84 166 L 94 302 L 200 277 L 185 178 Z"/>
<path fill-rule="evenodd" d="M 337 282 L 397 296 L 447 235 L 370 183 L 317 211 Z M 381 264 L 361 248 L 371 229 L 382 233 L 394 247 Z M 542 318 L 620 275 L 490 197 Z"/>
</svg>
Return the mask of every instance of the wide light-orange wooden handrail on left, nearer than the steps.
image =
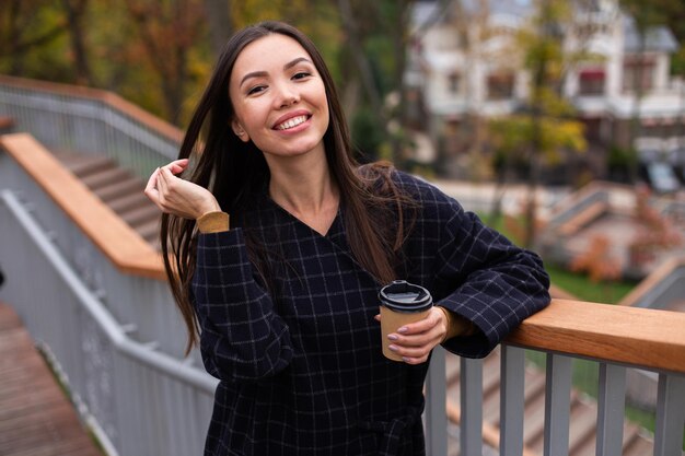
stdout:
<svg viewBox="0 0 685 456">
<path fill-rule="evenodd" d="M 166 279 L 160 254 L 32 136 L 4 135 L 0 145 L 117 269 Z"/>
</svg>

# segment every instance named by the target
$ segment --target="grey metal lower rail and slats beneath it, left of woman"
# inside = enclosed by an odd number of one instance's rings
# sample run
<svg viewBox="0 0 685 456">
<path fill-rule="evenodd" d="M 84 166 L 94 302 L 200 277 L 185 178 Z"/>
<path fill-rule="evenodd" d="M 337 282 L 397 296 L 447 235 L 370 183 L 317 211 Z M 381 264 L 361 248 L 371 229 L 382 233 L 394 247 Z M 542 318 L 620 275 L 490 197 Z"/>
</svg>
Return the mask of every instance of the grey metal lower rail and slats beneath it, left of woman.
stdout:
<svg viewBox="0 0 685 456">
<path fill-rule="evenodd" d="M 7 189 L 0 200 L 2 299 L 49 347 L 103 446 L 111 455 L 201 454 L 216 379 L 131 338 L 26 203 Z"/>
</svg>

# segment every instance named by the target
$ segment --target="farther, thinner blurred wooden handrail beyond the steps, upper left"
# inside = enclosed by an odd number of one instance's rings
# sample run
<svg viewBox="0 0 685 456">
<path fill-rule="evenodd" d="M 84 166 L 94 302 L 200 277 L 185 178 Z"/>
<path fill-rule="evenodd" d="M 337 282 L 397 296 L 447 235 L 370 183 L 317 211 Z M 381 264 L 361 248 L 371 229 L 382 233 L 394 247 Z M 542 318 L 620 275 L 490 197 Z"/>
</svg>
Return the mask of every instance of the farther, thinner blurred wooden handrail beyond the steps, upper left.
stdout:
<svg viewBox="0 0 685 456">
<path fill-rule="evenodd" d="M 101 89 L 86 87 L 82 85 L 62 84 L 58 82 L 16 78 L 5 74 L 0 74 L 0 84 L 10 85 L 18 89 L 27 89 L 37 92 L 45 92 L 49 94 L 95 100 L 130 116 L 131 118 L 136 119 L 136 121 L 147 126 L 148 128 L 171 139 L 172 141 L 176 141 L 179 144 L 183 141 L 183 131 L 181 131 L 177 127 L 160 119 L 156 116 L 153 116 L 152 114 L 148 113 L 144 109 L 141 109 L 135 104 L 127 102 L 126 100 L 121 98 L 119 95 L 113 92 L 107 92 Z"/>
</svg>

